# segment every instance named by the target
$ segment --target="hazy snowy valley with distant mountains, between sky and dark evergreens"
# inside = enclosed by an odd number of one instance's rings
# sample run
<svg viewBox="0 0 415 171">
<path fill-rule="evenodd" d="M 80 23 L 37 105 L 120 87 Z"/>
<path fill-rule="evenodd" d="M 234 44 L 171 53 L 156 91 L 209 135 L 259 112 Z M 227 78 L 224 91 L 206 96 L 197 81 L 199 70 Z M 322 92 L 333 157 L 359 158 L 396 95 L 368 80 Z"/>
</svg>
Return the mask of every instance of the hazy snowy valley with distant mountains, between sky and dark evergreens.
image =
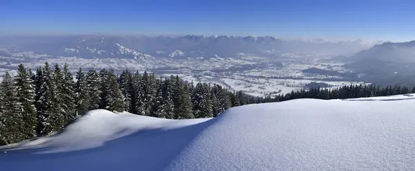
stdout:
<svg viewBox="0 0 415 171">
<path fill-rule="evenodd" d="M 409 43 L 270 36 L 3 36 L 0 69 L 13 71 L 23 63 L 34 70 L 48 61 L 67 63 L 73 73 L 79 67 L 147 71 L 221 84 L 252 96 L 275 96 L 313 86 L 384 83 L 385 77 L 378 78 L 378 73 L 387 73 L 392 79 L 412 69 L 407 66 L 413 55 L 410 48 Z M 388 55 L 394 53 L 406 54 L 398 61 L 389 60 Z M 400 67 L 402 64 L 405 66 Z M 396 67 L 386 71 L 385 65 Z"/>
</svg>

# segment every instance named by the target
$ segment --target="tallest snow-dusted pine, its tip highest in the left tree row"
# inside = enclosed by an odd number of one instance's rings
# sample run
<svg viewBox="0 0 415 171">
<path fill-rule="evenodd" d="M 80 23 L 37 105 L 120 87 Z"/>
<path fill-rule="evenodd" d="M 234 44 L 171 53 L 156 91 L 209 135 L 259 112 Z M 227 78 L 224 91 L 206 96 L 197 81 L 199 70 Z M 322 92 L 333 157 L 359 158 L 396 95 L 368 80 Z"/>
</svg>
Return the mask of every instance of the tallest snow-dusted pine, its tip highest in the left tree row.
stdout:
<svg viewBox="0 0 415 171">
<path fill-rule="evenodd" d="M 45 136 L 57 132 L 64 126 L 64 116 L 57 99 L 57 86 L 52 69 L 48 62 L 42 69 L 42 80 L 37 103 L 37 136 Z"/>
</svg>

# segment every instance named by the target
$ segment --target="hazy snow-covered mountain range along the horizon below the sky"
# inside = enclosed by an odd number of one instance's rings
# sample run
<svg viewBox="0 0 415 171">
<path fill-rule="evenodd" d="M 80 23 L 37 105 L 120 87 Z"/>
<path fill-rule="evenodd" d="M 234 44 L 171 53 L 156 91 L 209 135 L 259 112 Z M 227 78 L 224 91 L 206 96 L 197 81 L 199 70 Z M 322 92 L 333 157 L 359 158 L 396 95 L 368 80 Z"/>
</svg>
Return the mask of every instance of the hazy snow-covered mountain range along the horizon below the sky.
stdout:
<svg viewBox="0 0 415 171">
<path fill-rule="evenodd" d="M 6 37 L 0 45 L 15 45 L 19 51 L 82 58 L 210 58 L 250 55 L 279 57 L 282 53 L 324 53 L 348 55 L 371 47 L 356 41 L 332 42 L 324 39 L 283 40 L 277 37 L 238 36 L 98 36 Z"/>
</svg>

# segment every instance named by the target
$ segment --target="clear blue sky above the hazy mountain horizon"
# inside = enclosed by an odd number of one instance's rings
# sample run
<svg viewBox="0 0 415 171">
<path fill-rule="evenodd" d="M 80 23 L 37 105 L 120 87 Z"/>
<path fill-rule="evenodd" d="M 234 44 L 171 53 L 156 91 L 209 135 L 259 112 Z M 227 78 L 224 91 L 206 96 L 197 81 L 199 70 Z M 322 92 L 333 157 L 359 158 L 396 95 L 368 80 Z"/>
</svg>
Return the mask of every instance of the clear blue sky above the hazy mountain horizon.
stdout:
<svg viewBox="0 0 415 171">
<path fill-rule="evenodd" d="M 0 34 L 415 39 L 415 1 L 0 0 Z"/>
</svg>

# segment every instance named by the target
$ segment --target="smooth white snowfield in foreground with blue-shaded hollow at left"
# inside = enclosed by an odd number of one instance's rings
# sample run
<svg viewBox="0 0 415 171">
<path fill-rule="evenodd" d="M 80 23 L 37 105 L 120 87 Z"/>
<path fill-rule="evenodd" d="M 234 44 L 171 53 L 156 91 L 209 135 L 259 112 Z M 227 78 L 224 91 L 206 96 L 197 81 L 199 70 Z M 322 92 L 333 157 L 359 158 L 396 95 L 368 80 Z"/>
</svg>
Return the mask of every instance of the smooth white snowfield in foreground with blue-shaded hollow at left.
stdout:
<svg viewBox="0 0 415 171">
<path fill-rule="evenodd" d="M 415 96 L 301 99 L 207 119 L 90 111 L 1 170 L 415 170 Z"/>
</svg>

